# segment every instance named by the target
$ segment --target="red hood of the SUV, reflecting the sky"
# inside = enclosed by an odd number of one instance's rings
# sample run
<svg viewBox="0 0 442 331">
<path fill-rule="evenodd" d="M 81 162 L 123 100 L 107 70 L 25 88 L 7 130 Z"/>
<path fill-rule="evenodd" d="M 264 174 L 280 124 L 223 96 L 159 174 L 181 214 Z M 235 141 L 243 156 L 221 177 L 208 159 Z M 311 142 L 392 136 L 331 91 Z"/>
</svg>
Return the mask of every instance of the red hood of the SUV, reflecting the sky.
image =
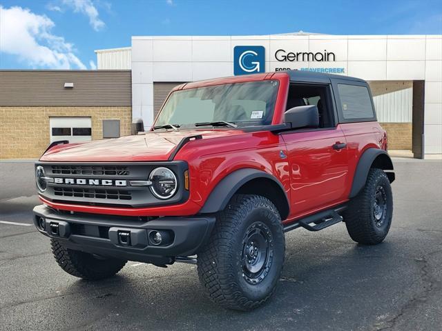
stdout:
<svg viewBox="0 0 442 331">
<path fill-rule="evenodd" d="M 201 134 L 203 139 L 242 134 L 241 130 L 182 130 L 147 132 L 118 139 L 69 143 L 51 148 L 40 161 L 56 162 L 131 162 L 166 161 L 184 138 Z"/>
</svg>

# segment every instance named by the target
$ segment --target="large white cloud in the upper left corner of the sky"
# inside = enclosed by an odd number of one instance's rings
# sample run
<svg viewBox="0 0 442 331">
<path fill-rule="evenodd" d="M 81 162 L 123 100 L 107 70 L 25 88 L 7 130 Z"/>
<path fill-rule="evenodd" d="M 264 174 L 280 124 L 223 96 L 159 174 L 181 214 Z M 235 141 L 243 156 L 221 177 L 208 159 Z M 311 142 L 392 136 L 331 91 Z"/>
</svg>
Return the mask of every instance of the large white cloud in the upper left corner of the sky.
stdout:
<svg viewBox="0 0 442 331">
<path fill-rule="evenodd" d="M 46 15 L 0 6 L 0 52 L 16 55 L 32 68 L 86 69 L 73 44 L 51 33 L 54 26 Z"/>
</svg>

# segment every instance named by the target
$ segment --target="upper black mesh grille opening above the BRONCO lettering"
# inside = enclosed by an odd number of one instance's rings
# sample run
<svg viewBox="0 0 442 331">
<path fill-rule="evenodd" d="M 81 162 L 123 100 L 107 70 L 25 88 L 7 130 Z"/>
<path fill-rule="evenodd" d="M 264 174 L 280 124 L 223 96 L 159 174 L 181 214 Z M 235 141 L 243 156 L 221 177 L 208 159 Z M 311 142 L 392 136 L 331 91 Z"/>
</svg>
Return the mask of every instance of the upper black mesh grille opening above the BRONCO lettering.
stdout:
<svg viewBox="0 0 442 331">
<path fill-rule="evenodd" d="M 52 165 L 52 174 L 89 174 L 95 176 L 128 176 L 124 165 Z"/>
</svg>

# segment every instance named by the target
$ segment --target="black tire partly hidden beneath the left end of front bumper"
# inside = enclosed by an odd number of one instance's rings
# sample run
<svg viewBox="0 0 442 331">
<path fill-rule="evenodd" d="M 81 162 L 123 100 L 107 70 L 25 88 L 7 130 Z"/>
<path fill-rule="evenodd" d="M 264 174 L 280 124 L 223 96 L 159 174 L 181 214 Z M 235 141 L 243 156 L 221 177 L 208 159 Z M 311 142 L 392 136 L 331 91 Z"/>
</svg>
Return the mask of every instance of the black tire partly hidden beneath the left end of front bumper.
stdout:
<svg viewBox="0 0 442 331">
<path fill-rule="evenodd" d="M 82 279 L 98 280 L 113 277 L 127 262 L 119 259 L 98 259 L 93 254 L 70 250 L 56 239 L 51 239 L 50 245 L 61 269 Z"/>
</svg>

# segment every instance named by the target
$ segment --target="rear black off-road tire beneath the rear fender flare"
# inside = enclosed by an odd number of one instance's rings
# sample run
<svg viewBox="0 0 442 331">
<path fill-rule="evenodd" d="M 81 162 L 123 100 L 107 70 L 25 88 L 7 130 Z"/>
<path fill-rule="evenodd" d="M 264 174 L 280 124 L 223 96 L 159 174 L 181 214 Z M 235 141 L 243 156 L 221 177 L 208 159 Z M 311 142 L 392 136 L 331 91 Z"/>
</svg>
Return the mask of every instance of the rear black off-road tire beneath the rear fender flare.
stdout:
<svg viewBox="0 0 442 331">
<path fill-rule="evenodd" d="M 375 201 L 378 188 L 385 195 L 386 210 L 382 225 L 376 225 Z M 345 225 L 350 237 L 357 243 L 375 245 L 381 243 L 390 230 L 393 216 L 393 196 L 387 174 L 381 169 L 369 170 L 367 181 L 361 192 L 349 202 L 343 213 Z"/>
</svg>

